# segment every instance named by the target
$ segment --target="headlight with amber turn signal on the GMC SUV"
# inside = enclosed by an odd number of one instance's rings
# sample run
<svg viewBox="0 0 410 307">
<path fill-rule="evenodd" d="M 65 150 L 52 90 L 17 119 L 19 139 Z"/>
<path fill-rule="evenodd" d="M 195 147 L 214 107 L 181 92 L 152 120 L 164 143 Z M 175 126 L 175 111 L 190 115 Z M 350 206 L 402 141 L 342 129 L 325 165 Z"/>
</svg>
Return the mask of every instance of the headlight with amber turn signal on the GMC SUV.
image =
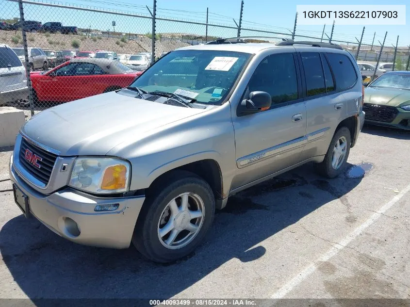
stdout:
<svg viewBox="0 0 410 307">
<path fill-rule="evenodd" d="M 116 158 L 78 157 L 69 186 L 91 193 L 128 191 L 131 165 Z"/>
</svg>

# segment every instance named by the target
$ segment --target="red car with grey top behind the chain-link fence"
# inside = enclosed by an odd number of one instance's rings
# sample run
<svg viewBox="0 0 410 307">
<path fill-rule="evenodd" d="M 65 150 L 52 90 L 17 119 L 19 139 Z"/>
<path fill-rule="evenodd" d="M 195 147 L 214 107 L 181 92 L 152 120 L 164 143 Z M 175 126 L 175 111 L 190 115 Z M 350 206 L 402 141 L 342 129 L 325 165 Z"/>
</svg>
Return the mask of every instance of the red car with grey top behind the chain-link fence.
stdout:
<svg viewBox="0 0 410 307">
<path fill-rule="evenodd" d="M 31 74 L 33 100 L 67 102 L 126 87 L 141 75 L 107 59 L 71 59 L 47 72 Z"/>
</svg>

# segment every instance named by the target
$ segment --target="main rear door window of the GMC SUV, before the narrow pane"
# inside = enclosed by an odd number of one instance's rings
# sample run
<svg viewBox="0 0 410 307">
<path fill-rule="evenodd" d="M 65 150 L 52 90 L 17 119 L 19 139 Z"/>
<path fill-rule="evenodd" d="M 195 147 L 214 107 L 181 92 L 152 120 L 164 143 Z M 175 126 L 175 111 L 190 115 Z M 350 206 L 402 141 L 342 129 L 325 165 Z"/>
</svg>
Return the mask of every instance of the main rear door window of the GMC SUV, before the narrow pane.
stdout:
<svg viewBox="0 0 410 307">
<path fill-rule="evenodd" d="M 310 97 L 326 93 L 319 52 L 302 52 L 301 56 L 306 77 L 306 95 Z"/>
</svg>

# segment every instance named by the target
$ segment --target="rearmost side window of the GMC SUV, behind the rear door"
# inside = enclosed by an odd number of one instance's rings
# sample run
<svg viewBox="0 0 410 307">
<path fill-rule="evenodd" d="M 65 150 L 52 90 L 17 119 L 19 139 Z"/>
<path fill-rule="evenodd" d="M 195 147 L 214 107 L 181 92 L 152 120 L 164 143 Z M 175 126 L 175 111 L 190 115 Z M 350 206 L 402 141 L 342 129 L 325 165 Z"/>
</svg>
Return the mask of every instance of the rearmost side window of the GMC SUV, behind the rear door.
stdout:
<svg viewBox="0 0 410 307">
<path fill-rule="evenodd" d="M 357 81 L 357 75 L 352 61 L 340 53 L 327 53 L 330 67 L 338 90 L 343 91 L 352 87 Z"/>
</svg>

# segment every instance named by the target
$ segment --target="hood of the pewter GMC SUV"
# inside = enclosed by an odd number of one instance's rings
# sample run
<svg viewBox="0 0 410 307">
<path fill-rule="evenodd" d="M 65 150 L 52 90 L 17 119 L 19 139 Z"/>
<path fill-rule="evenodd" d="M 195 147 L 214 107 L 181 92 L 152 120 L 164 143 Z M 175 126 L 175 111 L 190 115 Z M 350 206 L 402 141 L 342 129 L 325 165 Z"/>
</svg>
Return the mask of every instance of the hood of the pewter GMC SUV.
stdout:
<svg viewBox="0 0 410 307">
<path fill-rule="evenodd" d="M 62 156 L 105 155 L 124 141 L 204 112 L 115 92 L 68 102 L 32 117 L 21 132 Z"/>
</svg>

